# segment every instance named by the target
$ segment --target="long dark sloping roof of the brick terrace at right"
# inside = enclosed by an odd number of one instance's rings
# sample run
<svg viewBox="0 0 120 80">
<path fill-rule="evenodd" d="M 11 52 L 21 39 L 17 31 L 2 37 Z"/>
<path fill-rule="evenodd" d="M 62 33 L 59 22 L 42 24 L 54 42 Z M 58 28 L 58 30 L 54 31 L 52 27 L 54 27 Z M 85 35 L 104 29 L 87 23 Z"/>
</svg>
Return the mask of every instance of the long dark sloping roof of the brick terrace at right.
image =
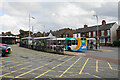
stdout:
<svg viewBox="0 0 120 80">
<path fill-rule="evenodd" d="M 115 24 L 115 22 L 108 23 L 105 25 L 95 25 L 95 26 L 90 26 L 90 27 L 86 27 L 86 28 L 79 28 L 74 32 L 74 34 L 75 33 L 90 32 L 90 31 L 97 31 L 97 26 L 98 26 L 98 30 L 106 30 L 106 29 L 110 29 L 114 24 Z"/>
</svg>

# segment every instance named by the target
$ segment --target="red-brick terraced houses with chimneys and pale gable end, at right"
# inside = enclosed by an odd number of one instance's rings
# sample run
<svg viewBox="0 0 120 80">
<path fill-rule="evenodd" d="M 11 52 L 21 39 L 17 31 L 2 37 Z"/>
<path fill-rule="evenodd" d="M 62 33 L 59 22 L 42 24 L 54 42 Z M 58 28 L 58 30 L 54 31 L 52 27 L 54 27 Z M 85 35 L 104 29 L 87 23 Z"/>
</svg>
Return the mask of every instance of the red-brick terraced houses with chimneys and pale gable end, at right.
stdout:
<svg viewBox="0 0 120 80">
<path fill-rule="evenodd" d="M 79 28 L 73 33 L 73 37 L 87 37 L 97 39 L 97 26 L 98 26 L 98 37 L 100 46 L 106 46 L 112 44 L 116 40 L 116 30 L 118 25 L 116 22 L 107 23 L 102 20 L 101 25 L 90 26 L 84 25 L 84 28 Z"/>
</svg>

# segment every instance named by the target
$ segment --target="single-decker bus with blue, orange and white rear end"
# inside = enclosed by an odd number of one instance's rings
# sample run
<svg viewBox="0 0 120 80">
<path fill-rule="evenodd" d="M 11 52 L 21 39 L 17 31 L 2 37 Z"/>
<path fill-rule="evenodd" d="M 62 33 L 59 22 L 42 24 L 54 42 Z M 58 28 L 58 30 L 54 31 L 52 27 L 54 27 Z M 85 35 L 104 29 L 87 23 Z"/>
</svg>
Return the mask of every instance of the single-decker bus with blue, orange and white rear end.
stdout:
<svg viewBox="0 0 120 80">
<path fill-rule="evenodd" d="M 87 50 L 87 39 L 80 38 L 55 38 L 49 39 L 50 47 L 55 49 L 56 46 L 64 46 L 64 50 L 68 51 L 84 51 Z"/>
</svg>

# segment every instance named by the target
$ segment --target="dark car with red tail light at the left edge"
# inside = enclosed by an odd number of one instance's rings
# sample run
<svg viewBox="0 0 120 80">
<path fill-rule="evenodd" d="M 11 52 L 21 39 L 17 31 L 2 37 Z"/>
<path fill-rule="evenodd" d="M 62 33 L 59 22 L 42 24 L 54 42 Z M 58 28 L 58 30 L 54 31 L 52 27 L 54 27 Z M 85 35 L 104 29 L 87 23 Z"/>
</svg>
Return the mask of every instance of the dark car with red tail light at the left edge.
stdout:
<svg viewBox="0 0 120 80">
<path fill-rule="evenodd" d="M 0 44 L 0 55 L 1 56 L 8 56 L 11 54 L 12 49 L 7 44 Z"/>
</svg>

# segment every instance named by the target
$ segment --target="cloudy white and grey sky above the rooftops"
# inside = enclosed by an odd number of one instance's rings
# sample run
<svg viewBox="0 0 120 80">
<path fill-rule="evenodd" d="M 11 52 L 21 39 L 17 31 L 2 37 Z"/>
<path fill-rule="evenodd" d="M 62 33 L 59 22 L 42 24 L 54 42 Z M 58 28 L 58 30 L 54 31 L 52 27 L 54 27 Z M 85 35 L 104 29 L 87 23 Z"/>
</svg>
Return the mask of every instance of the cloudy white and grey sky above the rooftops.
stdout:
<svg viewBox="0 0 120 80">
<path fill-rule="evenodd" d="M 4 1 L 0 5 L 0 33 L 19 34 L 20 29 L 29 30 L 29 15 L 30 30 L 33 27 L 34 32 L 97 25 L 93 15 L 98 16 L 99 25 L 102 20 L 118 23 L 117 1 Z"/>
</svg>

